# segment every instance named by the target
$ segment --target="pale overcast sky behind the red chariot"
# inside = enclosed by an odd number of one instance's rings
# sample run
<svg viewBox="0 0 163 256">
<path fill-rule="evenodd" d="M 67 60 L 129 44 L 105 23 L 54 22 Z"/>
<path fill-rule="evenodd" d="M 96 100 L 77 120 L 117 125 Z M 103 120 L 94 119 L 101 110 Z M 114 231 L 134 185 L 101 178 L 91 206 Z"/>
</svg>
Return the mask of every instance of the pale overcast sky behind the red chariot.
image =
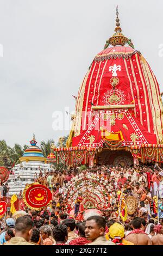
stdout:
<svg viewBox="0 0 163 256">
<path fill-rule="evenodd" d="M 38 142 L 68 134 L 53 130 L 53 112 L 73 111 L 72 95 L 114 32 L 116 4 L 163 92 L 162 0 L 0 0 L 0 139 L 12 147 L 33 133 Z"/>
</svg>

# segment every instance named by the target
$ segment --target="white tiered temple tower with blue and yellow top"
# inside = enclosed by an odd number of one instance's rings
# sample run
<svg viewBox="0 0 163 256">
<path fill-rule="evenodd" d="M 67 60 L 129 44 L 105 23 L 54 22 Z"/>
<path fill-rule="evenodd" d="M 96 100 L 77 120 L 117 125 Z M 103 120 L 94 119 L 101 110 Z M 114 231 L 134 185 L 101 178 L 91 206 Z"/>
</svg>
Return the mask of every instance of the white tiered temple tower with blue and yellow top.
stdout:
<svg viewBox="0 0 163 256">
<path fill-rule="evenodd" d="M 41 172 L 44 174 L 45 171 L 51 169 L 51 164 L 47 163 L 47 159 L 43 156 L 42 151 L 36 146 L 37 142 L 35 137 L 30 141 L 30 147 L 24 151 L 22 157 L 20 157 L 20 162 L 12 168 L 12 174 L 9 175 L 8 185 L 9 196 L 12 194 L 20 194 L 21 190 L 24 190 L 26 184 L 34 182 L 34 175 L 37 176 Z"/>
</svg>

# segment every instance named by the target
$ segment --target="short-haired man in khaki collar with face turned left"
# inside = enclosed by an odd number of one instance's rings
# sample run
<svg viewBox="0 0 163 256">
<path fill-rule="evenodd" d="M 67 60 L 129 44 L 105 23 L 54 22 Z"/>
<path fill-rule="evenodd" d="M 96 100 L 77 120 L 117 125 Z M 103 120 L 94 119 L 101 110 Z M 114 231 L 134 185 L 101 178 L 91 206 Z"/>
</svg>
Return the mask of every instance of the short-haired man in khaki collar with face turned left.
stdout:
<svg viewBox="0 0 163 256">
<path fill-rule="evenodd" d="M 101 216 L 91 216 L 87 218 L 85 223 L 85 237 L 91 241 L 87 245 L 115 245 L 111 241 L 105 239 L 105 219 Z"/>
</svg>

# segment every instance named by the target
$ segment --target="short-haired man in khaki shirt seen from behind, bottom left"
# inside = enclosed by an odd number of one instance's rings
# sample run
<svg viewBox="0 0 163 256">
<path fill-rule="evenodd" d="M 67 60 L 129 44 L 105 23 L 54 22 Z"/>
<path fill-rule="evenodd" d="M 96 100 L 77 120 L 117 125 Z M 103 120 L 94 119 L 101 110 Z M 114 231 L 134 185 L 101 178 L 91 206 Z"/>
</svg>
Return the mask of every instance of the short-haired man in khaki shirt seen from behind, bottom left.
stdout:
<svg viewBox="0 0 163 256">
<path fill-rule="evenodd" d="M 15 237 L 12 237 L 5 245 L 34 245 L 30 243 L 34 223 L 27 216 L 18 217 L 15 222 Z"/>
</svg>

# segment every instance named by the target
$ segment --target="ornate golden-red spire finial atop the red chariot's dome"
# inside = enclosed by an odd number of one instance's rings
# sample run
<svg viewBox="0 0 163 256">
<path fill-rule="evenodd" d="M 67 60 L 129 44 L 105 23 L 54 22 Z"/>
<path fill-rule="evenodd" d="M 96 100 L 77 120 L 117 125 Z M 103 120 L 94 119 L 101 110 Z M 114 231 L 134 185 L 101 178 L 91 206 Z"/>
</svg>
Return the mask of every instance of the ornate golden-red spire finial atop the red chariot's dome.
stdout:
<svg viewBox="0 0 163 256">
<path fill-rule="evenodd" d="M 104 49 L 108 48 L 109 45 L 116 46 L 116 45 L 122 45 L 124 46 L 125 44 L 129 44 L 132 48 L 134 48 L 133 43 L 131 42 L 131 39 L 126 38 L 122 34 L 122 29 L 120 27 L 120 19 L 118 17 L 118 5 L 116 8 L 116 28 L 115 28 L 115 33 L 109 38 L 109 40 L 106 41 L 106 44 L 104 46 Z"/>
</svg>

